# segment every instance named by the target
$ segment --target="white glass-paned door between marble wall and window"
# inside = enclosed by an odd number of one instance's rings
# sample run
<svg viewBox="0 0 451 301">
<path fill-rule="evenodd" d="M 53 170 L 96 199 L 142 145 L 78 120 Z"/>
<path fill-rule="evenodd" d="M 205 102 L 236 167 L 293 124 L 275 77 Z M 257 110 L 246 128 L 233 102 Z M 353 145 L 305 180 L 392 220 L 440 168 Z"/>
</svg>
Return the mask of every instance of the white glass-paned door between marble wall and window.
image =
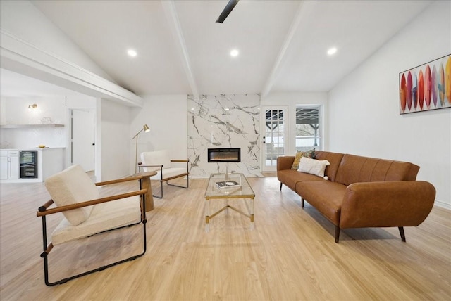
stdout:
<svg viewBox="0 0 451 301">
<path fill-rule="evenodd" d="M 287 128 L 288 128 L 288 108 L 286 106 L 263 107 L 263 125 L 262 133 L 264 133 L 263 158 L 261 160 L 261 170 L 263 172 L 275 172 L 277 158 L 285 155 L 285 149 L 288 145 Z"/>
</svg>

